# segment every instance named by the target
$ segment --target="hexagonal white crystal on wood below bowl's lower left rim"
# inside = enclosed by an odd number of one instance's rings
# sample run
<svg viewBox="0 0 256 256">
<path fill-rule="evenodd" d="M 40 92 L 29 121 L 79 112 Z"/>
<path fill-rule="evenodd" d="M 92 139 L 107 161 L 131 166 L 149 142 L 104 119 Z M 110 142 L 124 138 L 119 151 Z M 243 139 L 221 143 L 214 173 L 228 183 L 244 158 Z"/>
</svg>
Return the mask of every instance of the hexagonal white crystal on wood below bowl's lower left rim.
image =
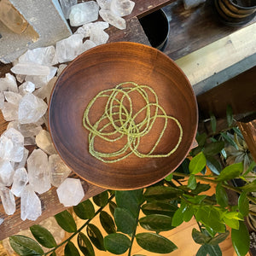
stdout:
<svg viewBox="0 0 256 256">
<path fill-rule="evenodd" d="M 76 206 L 84 198 L 84 189 L 77 178 L 67 177 L 56 191 L 64 207 Z"/>
</svg>

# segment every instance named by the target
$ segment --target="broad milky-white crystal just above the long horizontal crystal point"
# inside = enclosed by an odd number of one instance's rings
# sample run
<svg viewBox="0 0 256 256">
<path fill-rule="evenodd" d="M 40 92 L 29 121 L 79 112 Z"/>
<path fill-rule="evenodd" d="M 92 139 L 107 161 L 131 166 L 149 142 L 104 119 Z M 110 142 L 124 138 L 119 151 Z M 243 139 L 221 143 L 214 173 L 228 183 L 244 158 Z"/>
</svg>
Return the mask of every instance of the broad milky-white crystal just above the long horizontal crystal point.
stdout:
<svg viewBox="0 0 256 256">
<path fill-rule="evenodd" d="M 28 49 L 24 55 L 19 58 L 20 63 L 36 63 L 43 66 L 52 66 L 57 64 L 55 47 L 48 46 L 36 49 Z"/>
</svg>

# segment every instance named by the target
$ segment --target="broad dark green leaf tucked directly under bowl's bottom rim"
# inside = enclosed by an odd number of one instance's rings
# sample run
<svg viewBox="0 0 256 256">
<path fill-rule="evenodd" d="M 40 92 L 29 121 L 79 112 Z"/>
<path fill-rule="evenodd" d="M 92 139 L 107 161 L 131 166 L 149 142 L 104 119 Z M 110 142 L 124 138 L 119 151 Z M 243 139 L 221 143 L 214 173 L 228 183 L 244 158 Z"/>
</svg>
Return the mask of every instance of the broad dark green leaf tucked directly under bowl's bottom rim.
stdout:
<svg viewBox="0 0 256 256">
<path fill-rule="evenodd" d="M 143 189 L 115 192 L 118 207 L 125 208 L 137 218 L 140 205 L 143 203 Z"/>
</svg>

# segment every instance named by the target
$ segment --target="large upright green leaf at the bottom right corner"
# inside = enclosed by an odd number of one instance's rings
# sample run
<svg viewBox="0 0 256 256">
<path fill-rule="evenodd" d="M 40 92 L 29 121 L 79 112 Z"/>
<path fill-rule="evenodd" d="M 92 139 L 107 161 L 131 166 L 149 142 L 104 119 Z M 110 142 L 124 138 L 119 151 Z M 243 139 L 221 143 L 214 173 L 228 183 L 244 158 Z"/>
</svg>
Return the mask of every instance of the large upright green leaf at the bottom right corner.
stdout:
<svg viewBox="0 0 256 256">
<path fill-rule="evenodd" d="M 240 221 L 239 230 L 231 230 L 232 244 L 238 256 L 247 254 L 250 247 L 250 236 L 246 224 Z"/>
</svg>

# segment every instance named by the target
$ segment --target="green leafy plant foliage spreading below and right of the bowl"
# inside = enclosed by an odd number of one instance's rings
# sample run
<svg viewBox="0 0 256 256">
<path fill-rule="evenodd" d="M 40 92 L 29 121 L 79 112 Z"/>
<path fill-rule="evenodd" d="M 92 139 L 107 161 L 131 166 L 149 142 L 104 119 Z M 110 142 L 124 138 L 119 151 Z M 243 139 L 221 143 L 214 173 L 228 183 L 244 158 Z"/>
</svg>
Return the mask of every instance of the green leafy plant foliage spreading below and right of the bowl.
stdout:
<svg viewBox="0 0 256 256">
<path fill-rule="evenodd" d="M 212 137 L 198 134 L 198 147 L 191 150 L 189 157 L 175 172 L 145 189 L 131 191 L 104 191 L 90 200 L 73 207 L 74 214 L 84 219 L 78 229 L 73 215 L 68 211 L 55 215 L 57 223 L 71 236 L 60 244 L 40 225 L 31 227 L 35 240 L 26 236 L 11 236 L 11 247 L 19 255 L 55 255 L 55 250 L 65 247 L 65 255 L 94 256 L 98 250 L 113 254 L 132 255 L 134 241 L 143 249 L 152 253 L 172 253 L 177 246 L 162 235 L 163 231 L 175 229 L 183 222 L 195 218 L 198 229 L 191 236 L 201 245 L 197 256 L 222 255 L 219 243 L 230 235 L 237 255 L 246 255 L 249 249 L 249 235 L 244 218 L 249 212 L 249 202 L 255 204 L 252 192 L 256 191 L 255 180 L 250 173 L 255 166 L 253 161 L 245 170 L 242 162 L 227 165 L 225 147 L 235 147 L 236 136 L 241 133 L 233 124 L 232 111 L 227 109 L 229 129 L 218 134 L 216 118 L 211 114 Z M 230 136 L 230 134 L 232 136 Z M 236 134 L 236 135 L 235 135 Z M 235 147 L 236 148 L 236 147 Z M 207 166 L 210 174 L 206 172 Z M 241 178 L 242 187 L 230 183 Z M 203 182 L 203 183 L 201 183 Z M 211 186 L 215 194 L 207 195 Z M 230 205 L 229 193 L 237 193 L 237 204 Z M 98 207 L 95 210 L 92 201 Z M 109 208 L 111 215 L 106 211 Z M 108 234 L 103 236 L 99 227 L 91 224 L 93 218 L 99 218 L 102 228 Z M 137 231 L 141 226 L 145 231 Z M 230 229 L 227 229 L 227 226 Z M 71 241 L 77 238 L 78 247 Z M 48 247 L 44 253 L 41 246 Z M 135 256 L 135 255 L 134 255 Z"/>
</svg>

